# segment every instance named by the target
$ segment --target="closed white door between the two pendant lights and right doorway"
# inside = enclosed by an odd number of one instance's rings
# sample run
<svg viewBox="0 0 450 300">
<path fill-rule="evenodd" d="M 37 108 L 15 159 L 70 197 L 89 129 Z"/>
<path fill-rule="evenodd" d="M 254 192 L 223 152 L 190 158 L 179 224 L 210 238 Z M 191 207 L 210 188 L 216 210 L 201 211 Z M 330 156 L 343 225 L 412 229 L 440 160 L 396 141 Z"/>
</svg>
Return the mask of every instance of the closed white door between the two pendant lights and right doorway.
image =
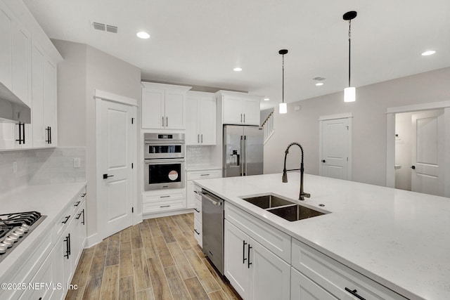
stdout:
<svg viewBox="0 0 450 300">
<path fill-rule="evenodd" d="M 320 122 L 319 175 L 351 180 L 349 159 L 352 148 L 350 118 Z"/>
</svg>

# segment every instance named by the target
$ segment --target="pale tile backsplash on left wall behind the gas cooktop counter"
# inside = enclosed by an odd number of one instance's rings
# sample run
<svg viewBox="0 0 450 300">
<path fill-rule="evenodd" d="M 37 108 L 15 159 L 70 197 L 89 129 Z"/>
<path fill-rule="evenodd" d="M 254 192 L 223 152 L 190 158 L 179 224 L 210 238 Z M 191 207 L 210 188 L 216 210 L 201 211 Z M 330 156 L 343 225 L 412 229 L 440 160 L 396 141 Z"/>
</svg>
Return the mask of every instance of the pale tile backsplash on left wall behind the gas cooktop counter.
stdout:
<svg viewBox="0 0 450 300">
<path fill-rule="evenodd" d="M 74 167 L 79 159 L 79 168 Z M 86 148 L 0 152 L 0 194 L 23 185 L 86 181 Z"/>
</svg>

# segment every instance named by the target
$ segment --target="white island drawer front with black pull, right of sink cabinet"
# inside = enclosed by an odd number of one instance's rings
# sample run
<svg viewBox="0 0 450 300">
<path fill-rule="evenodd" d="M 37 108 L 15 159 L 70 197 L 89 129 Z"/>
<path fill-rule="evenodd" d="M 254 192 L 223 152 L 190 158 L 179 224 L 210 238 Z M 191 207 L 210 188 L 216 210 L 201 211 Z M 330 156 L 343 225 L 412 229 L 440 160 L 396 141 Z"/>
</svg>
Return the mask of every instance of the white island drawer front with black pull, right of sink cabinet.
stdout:
<svg viewBox="0 0 450 300">
<path fill-rule="evenodd" d="M 356 289 L 364 299 L 406 299 L 299 240 L 293 239 L 292 253 L 293 267 L 338 299 L 355 299 L 346 287 Z"/>
</svg>

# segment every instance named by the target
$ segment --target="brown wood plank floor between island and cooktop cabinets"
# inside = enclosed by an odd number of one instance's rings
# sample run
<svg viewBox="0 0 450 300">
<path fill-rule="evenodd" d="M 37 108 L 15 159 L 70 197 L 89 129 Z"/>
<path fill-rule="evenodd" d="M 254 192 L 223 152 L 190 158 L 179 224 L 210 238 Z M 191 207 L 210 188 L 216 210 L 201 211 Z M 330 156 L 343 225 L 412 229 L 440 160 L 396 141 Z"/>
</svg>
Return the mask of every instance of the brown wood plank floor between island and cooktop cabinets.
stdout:
<svg viewBox="0 0 450 300">
<path fill-rule="evenodd" d="M 84 249 L 65 299 L 240 299 L 193 237 L 193 214 L 146 219 Z"/>
</svg>

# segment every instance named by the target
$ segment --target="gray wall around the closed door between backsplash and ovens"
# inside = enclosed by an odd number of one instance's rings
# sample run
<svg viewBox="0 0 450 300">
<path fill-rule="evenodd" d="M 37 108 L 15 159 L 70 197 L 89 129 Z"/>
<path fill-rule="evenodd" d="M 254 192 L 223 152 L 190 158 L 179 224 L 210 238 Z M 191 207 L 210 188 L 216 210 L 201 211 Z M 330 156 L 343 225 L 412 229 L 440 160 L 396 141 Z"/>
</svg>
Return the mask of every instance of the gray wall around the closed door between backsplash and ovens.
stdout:
<svg viewBox="0 0 450 300">
<path fill-rule="evenodd" d="M 60 89 L 58 114 L 61 114 L 58 119 L 58 126 L 60 126 L 58 138 L 64 137 L 64 144 L 86 145 L 86 181 L 89 193 L 86 210 L 89 237 L 98 232 L 94 93 L 96 89 L 100 89 L 120 96 L 140 99 L 141 70 L 89 45 L 80 45 L 71 41 L 53 41 L 53 43 L 64 58 L 64 63 L 58 66 L 58 80 L 62 82 L 58 84 Z M 85 79 L 72 80 L 77 74 Z M 67 84 L 64 84 L 65 82 Z M 69 84 L 70 82 L 72 85 Z M 70 115 L 72 110 L 79 113 L 79 118 L 63 117 Z"/>
</svg>

